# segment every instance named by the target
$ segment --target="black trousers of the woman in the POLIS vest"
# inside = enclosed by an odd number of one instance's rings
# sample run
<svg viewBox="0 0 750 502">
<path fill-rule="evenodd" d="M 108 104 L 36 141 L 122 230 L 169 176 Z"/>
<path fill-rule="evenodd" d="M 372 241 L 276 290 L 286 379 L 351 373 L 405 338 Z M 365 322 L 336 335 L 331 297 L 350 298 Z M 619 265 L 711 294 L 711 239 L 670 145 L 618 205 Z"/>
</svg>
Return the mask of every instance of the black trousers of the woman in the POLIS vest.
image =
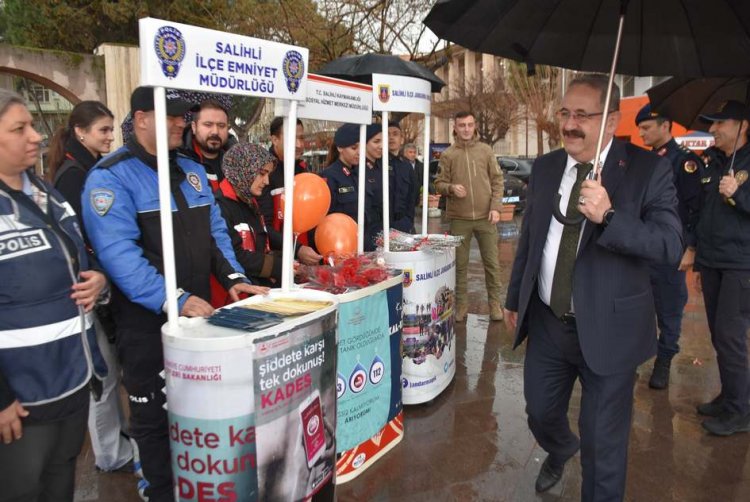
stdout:
<svg viewBox="0 0 750 502">
<path fill-rule="evenodd" d="M 24 424 L 21 439 L 0 443 L 0 501 L 72 502 L 88 415 L 87 401 L 75 415 Z"/>
</svg>

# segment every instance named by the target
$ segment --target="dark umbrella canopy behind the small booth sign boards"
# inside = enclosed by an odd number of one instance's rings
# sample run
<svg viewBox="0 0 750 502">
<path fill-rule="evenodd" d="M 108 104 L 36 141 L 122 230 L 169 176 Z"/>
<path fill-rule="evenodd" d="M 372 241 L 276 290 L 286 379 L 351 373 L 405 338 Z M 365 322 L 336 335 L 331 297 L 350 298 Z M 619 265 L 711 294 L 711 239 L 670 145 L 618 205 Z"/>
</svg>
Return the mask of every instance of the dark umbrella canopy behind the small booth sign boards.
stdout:
<svg viewBox="0 0 750 502">
<path fill-rule="evenodd" d="M 421 78 L 430 82 L 432 92 L 440 92 L 445 86 L 445 82 L 424 66 L 390 54 L 342 56 L 325 65 L 318 73 L 370 85 L 373 73 Z"/>
</svg>

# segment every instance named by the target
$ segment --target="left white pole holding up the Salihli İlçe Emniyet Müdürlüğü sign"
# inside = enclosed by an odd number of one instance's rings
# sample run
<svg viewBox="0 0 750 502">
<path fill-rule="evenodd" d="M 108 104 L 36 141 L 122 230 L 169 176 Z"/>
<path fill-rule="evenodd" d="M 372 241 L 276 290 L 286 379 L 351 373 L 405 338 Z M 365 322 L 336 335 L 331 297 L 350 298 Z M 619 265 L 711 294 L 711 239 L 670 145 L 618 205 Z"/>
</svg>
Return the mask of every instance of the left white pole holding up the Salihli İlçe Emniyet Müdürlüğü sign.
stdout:
<svg viewBox="0 0 750 502">
<path fill-rule="evenodd" d="M 156 119 L 156 165 L 159 176 L 159 217 L 161 247 L 164 256 L 164 284 L 167 293 L 167 331 L 178 330 L 177 267 L 174 257 L 172 230 L 172 191 L 169 185 L 169 142 L 167 140 L 167 102 L 164 87 L 154 87 L 154 116 Z M 179 188 L 177 188 L 179 190 Z"/>
</svg>

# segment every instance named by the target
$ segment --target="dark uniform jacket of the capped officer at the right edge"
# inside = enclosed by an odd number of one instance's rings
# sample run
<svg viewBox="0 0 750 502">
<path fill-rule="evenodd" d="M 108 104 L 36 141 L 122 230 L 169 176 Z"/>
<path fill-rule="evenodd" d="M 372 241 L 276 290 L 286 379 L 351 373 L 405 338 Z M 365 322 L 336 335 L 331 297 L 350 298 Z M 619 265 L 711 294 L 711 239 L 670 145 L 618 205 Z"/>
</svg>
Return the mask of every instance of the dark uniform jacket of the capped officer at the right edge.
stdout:
<svg viewBox="0 0 750 502">
<path fill-rule="evenodd" d="M 750 270 L 750 143 L 737 150 L 734 177 L 739 186 L 727 201 L 719 182 L 727 175 L 730 158 L 718 148 L 705 152 L 702 206 L 697 226 L 696 268 Z"/>
</svg>

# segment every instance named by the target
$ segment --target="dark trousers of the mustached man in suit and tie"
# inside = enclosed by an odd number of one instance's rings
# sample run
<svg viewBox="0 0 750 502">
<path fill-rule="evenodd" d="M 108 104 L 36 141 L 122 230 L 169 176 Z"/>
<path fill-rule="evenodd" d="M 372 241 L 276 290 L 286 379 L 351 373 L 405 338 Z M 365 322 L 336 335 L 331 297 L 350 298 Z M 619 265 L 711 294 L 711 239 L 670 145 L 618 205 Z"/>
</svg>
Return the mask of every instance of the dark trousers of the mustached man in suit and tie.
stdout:
<svg viewBox="0 0 750 502">
<path fill-rule="evenodd" d="M 524 367 L 529 428 L 556 463 L 567 461 L 580 447 L 583 501 L 623 500 L 635 368 L 614 375 L 595 374 L 583 358 L 575 324 L 556 318 L 537 295 L 529 308 Z M 568 422 L 576 379 L 582 388 L 580 441 Z"/>
</svg>

